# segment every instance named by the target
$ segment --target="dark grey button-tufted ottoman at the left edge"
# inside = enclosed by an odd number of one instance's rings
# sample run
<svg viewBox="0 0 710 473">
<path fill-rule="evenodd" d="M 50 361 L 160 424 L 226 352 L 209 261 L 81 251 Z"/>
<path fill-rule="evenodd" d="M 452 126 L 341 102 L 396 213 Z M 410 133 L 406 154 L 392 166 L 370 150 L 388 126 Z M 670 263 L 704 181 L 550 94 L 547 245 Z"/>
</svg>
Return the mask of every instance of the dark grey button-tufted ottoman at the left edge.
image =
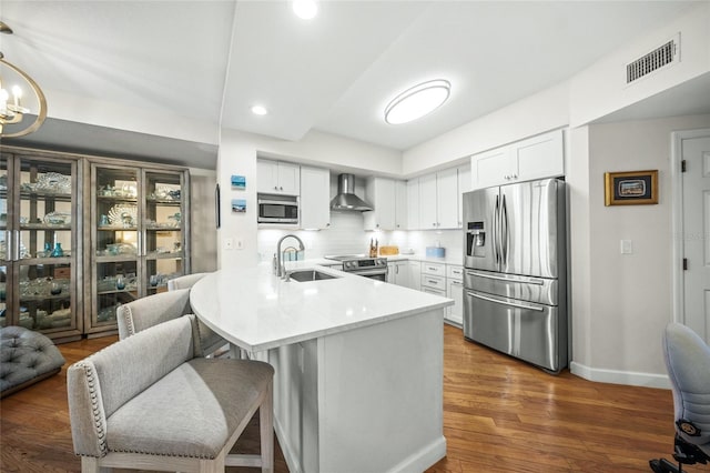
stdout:
<svg viewBox="0 0 710 473">
<path fill-rule="evenodd" d="M 0 329 L 0 397 L 59 373 L 64 358 L 54 343 L 23 326 Z"/>
</svg>

